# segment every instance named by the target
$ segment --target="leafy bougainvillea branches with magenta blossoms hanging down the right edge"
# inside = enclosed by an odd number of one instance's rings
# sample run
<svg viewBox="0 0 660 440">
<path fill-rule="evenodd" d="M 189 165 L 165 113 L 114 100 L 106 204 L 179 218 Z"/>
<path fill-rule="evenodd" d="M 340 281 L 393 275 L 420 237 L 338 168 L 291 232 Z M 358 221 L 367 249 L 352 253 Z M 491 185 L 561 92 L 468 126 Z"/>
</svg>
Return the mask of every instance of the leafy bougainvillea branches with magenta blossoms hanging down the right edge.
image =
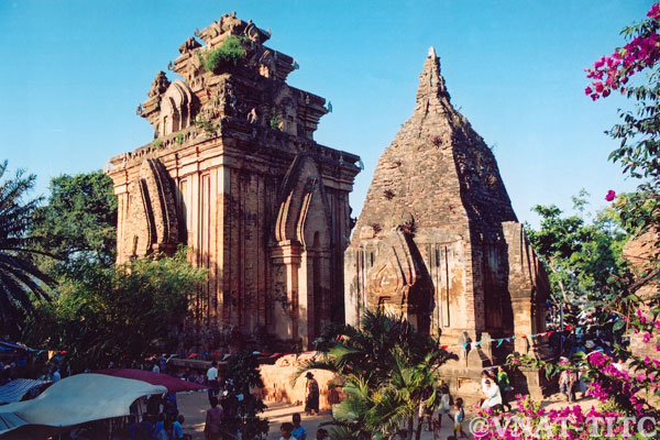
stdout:
<svg viewBox="0 0 660 440">
<path fill-rule="evenodd" d="M 648 283 L 658 282 L 660 266 L 660 63 L 658 62 L 658 45 L 660 16 L 658 4 L 653 4 L 647 16 L 640 22 L 622 31 L 628 43 L 615 51 L 616 56 L 603 57 L 594 67 L 588 69 L 587 77 L 596 79 L 597 86 L 604 87 L 602 96 L 606 97 L 609 89 L 620 86 L 620 91 L 634 100 L 632 110 L 619 110 L 620 122 L 607 133 L 619 141 L 619 145 L 609 154 L 609 160 L 623 166 L 623 173 L 640 179 L 635 194 L 619 196 L 615 202 L 622 224 L 634 235 L 646 232 L 654 233 L 649 252 L 650 257 L 645 266 L 636 267 L 636 277 L 627 283 L 612 286 L 609 309 L 622 315 L 635 310 L 640 304 L 636 290 Z M 616 59 L 623 59 L 618 63 Z M 641 78 L 640 73 L 647 74 Z M 603 75 L 607 75 L 606 79 Z M 639 75 L 639 76 L 638 76 Z M 635 77 L 635 78 L 634 78 Z M 628 81 L 630 79 L 630 81 Z M 625 85 L 625 87 L 624 87 Z M 588 88 L 585 90 L 587 92 Z M 607 94 L 606 94 L 607 92 Z M 598 90 L 592 98 L 598 99 Z M 651 235 L 652 237 L 652 235 Z M 660 295 L 650 295 L 644 300 L 651 309 L 658 308 Z M 627 314 L 626 314 L 627 315 Z"/>
</svg>

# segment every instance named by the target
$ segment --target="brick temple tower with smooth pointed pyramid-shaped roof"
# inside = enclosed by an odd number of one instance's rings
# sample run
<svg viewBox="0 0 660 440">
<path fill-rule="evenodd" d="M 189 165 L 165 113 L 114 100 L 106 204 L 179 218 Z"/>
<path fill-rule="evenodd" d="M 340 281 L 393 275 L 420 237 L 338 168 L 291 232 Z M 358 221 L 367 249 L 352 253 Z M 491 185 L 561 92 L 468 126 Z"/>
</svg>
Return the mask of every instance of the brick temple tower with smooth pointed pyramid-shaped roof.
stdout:
<svg viewBox="0 0 660 440">
<path fill-rule="evenodd" d="M 413 117 L 378 161 L 344 264 L 349 323 L 382 307 L 448 345 L 544 331 L 547 276 L 493 152 L 450 103 L 433 48 Z M 477 370 L 514 349 L 534 351 L 530 343 L 481 344 L 466 358 Z"/>
</svg>

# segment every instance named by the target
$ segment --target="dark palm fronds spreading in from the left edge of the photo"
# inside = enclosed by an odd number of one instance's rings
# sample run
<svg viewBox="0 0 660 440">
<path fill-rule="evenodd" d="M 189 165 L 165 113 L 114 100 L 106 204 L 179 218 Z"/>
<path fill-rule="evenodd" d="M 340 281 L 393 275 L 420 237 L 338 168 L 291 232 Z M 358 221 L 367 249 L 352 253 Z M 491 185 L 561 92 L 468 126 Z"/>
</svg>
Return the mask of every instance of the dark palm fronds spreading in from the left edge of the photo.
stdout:
<svg viewBox="0 0 660 440">
<path fill-rule="evenodd" d="M 6 173 L 7 161 L 0 164 L 0 328 L 15 336 L 33 301 L 50 299 L 51 279 L 33 262 L 34 255 L 45 252 L 26 237 L 40 199 L 24 198 L 36 176 L 19 169 L 13 178 L 3 178 Z"/>
</svg>

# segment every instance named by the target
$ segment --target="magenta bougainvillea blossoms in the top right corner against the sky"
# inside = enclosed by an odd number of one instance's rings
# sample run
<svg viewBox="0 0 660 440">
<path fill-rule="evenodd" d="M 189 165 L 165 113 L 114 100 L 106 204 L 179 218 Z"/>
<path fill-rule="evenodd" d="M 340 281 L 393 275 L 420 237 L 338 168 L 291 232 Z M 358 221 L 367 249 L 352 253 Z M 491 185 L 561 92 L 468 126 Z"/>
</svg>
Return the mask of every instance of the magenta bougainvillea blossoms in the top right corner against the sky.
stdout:
<svg viewBox="0 0 660 440">
<path fill-rule="evenodd" d="M 651 21 L 660 22 L 660 4 L 651 7 L 647 16 Z M 594 101 L 606 98 L 612 90 L 620 89 L 625 92 L 625 85 L 636 73 L 647 66 L 652 66 L 660 61 L 660 34 L 657 31 L 635 37 L 623 48 L 617 48 L 610 56 L 603 56 L 594 63 L 593 68 L 587 68 L 586 77 L 592 78 L 591 86 L 584 94 Z"/>
</svg>

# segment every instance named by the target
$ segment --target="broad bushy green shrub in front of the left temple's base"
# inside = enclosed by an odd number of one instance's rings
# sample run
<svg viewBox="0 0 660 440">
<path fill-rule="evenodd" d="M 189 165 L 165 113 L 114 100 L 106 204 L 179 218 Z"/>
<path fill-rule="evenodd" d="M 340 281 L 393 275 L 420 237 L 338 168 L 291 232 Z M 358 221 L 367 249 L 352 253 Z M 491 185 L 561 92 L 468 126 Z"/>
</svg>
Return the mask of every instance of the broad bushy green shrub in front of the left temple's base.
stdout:
<svg viewBox="0 0 660 440">
<path fill-rule="evenodd" d="M 183 323 L 188 296 L 205 277 L 188 264 L 184 249 L 174 257 L 88 266 L 61 284 L 56 300 L 36 309 L 25 342 L 67 351 L 77 371 L 105 367 L 110 360 L 139 363 L 174 343 L 170 331 Z"/>
</svg>

